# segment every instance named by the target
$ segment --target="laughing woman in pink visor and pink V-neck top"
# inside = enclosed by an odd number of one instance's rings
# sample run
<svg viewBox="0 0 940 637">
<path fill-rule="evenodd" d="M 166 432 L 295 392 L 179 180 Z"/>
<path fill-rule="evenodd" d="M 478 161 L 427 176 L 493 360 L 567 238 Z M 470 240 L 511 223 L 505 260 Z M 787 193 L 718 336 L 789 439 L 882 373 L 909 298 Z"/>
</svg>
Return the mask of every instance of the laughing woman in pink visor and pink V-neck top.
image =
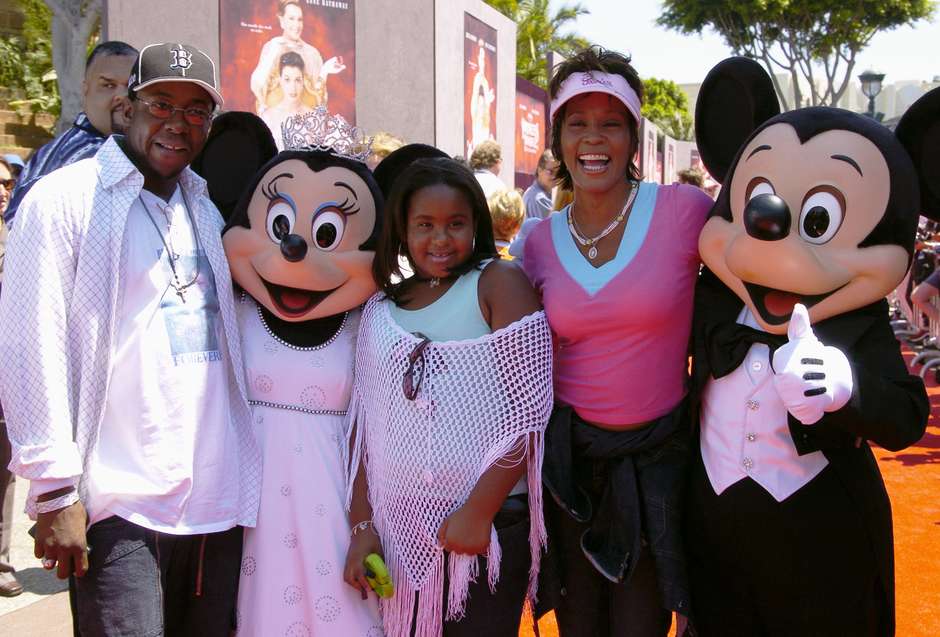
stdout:
<svg viewBox="0 0 940 637">
<path fill-rule="evenodd" d="M 643 87 L 628 58 L 586 49 L 550 92 L 558 178 L 574 201 L 531 231 L 523 258 L 559 344 L 543 475 L 549 572 L 562 577 L 540 595 L 566 637 L 665 635 L 670 611 L 689 613 L 686 346 L 712 202 L 640 183 Z"/>
</svg>

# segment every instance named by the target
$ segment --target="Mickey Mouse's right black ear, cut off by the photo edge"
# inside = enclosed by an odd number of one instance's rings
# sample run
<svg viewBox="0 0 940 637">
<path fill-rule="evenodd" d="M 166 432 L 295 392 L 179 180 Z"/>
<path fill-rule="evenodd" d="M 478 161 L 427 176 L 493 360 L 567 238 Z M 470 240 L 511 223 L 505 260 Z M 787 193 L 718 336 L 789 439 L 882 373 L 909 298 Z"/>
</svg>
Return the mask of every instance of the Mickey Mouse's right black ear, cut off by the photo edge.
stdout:
<svg viewBox="0 0 940 637">
<path fill-rule="evenodd" d="M 894 134 L 914 162 L 920 181 L 921 214 L 940 220 L 940 88 L 914 102 Z"/>
</svg>

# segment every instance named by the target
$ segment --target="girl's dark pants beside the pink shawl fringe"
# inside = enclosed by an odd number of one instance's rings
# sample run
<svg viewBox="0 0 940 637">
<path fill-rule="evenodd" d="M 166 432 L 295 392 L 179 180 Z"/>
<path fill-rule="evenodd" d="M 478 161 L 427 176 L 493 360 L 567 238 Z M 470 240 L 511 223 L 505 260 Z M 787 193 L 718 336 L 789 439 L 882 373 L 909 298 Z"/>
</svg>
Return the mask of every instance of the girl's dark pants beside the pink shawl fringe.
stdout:
<svg viewBox="0 0 940 637">
<path fill-rule="evenodd" d="M 517 637 L 522 620 L 522 607 L 529 586 L 529 507 L 527 496 L 516 495 L 506 499 L 493 519 L 502 560 L 496 592 L 490 592 L 486 578 L 486 558 L 479 557 L 480 576 L 470 584 L 467 607 L 463 619 L 445 621 L 443 637 Z M 448 556 L 445 556 L 445 560 Z M 447 612 L 447 562 L 444 563 L 444 612 Z M 418 605 L 415 604 L 415 615 Z M 414 628 L 412 628 L 412 635 Z"/>
</svg>

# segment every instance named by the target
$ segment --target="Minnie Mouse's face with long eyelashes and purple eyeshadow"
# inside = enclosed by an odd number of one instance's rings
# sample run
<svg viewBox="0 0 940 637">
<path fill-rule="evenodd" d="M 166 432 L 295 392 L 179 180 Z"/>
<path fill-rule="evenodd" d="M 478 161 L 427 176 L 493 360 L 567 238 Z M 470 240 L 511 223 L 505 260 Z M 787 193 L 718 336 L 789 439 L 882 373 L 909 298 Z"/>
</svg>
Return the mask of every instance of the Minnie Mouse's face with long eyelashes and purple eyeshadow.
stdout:
<svg viewBox="0 0 940 637">
<path fill-rule="evenodd" d="M 222 237 L 235 281 L 286 321 L 332 316 L 376 290 L 375 253 L 359 249 L 375 227 L 369 186 L 340 166 L 312 171 L 289 159 L 268 169 L 248 205 L 251 227 Z"/>
</svg>

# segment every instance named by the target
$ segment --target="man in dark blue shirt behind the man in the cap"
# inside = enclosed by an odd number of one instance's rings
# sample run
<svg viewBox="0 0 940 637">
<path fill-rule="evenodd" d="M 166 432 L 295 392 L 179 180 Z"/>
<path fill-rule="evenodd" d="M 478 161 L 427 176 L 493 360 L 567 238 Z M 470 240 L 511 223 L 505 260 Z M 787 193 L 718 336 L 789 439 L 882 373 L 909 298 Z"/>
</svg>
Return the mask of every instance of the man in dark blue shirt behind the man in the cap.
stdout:
<svg viewBox="0 0 940 637">
<path fill-rule="evenodd" d="M 26 162 L 3 218 L 11 225 L 16 211 L 41 177 L 91 157 L 112 133 L 124 129 L 121 100 L 127 96 L 127 76 L 137 49 L 118 41 L 102 42 L 88 55 L 82 80 L 83 112 L 72 127 L 37 150 Z"/>
</svg>

